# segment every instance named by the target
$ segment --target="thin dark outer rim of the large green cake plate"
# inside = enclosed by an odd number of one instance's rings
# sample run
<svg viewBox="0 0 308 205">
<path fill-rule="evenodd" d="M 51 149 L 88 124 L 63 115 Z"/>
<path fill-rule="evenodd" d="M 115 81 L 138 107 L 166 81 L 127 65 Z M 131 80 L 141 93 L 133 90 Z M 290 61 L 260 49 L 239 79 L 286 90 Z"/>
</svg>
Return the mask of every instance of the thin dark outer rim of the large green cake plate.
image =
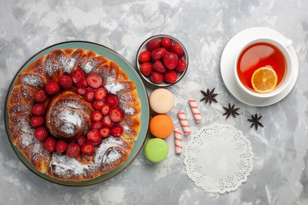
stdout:
<svg viewBox="0 0 308 205">
<path fill-rule="evenodd" d="M 143 140 L 143 142 L 142 142 L 142 144 L 141 144 L 140 149 L 137 151 L 137 153 L 136 153 L 136 155 L 133 157 L 133 159 L 132 159 L 122 170 L 120 170 L 117 174 L 115 174 L 114 176 L 111 176 L 111 177 L 109 177 L 109 178 L 106 178 L 106 179 L 104 179 L 104 180 L 102 180 L 102 181 L 99 181 L 99 182 L 96 182 L 96 183 L 92 183 L 92 184 L 85 184 L 85 185 L 68 185 L 68 184 L 62 184 L 62 183 L 56 182 L 56 181 L 51 181 L 51 180 L 49 180 L 49 179 L 47 179 L 47 178 L 45 178 L 45 177 L 43 177 L 43 176 L 38 175 L 38 174 L 35 173 L 30 167 L 28 167 L 28 165 L 26 165 L 26 163 L 20 158 L 20 156 L 18 155 L 18 153 L 16 152 L 16 150 L 15 150 L 15 148 L 14 148 L 14 145 L 13 145 L 12 142 L 11 142 L 11 139 L 10 139 L 10 137 L 9 137 L 9 130 L 7 129 L 7 126 L 8 126 L 8 125 L 7 125 L 7 123 L 6 123 L 6 119 L 7 119 L 7 118 L 6 118 L 6 110 L 7 110 L 8 95 L 9 95 L 9 93 L 10 93 L 10 88 L 12 87 L 12 85 L 13 85 L 13 83 L 14 83 L 14 80 L 15 80 L 16 77 L 18 76 L 19 72 L 23 69 L 23 67 L 24 67 L 29 61 L 31 61 L 31 59 L 35 58 L 37 55 L 39 55 L 39 54 L 42 53 L 43 51 L 48 50 L 48 49 L 50 49 L 50 48 L 52 48 L 52 47 L 55 47 L 55 46 L 58 46 L 58 45 L 62 45 L 62 44 L 67 44 L 67 43 L 86 43 L 86 44 L 92 44 L 92 45 L 96 45 L 96 46 L 105 48 L 105 49 L 111 51 L 112 53 L 118 55 L 118 56 L 119 56 L 121 59 L 123 59 L 123 60 L 132 68 L 132 70 L 136 73 L 136 75 L 137 75 L 137 77 L 139 78 L 139 80 L 140 80 L 140 82 L 141 82 L 141 84 L 142 84 L 144 90 L 146 91 L 146 96 L 147 96 L 146 99 L 147 99 L 147 102 L 148 102 L 147 104 L 148 104 L 148 108 L 149 108 L 149 109 L 148 109 L 148 110 L 149 110 L 149 122 L 148 122 L 148 125 L 147 125 L 147 132 L 146 132 L 145 138 L 144 138 L 144 140 Z M 59 184 L 59 185 L 62 185 L 62 186 L 68 186 L 68 187 L 85 187 L 85 186 L 92 186 L 92 185 L 95 185 L 95 184 L 98 184 L 98 183 L 102 183 L 102 182 L 104 182 L 104 181 L 107 181 L 107 180 L 109 180 L 109 179 L 112 179 L 113 177 L 118 176 L 120 173 L 122 173 L 122 172 L 123 172 L 123 171 L 124 171 L 124 170 L 125 170 L 136 158 L 137 158 L 137 156 L 138 156 L 139 153 L 141 152 L 141 150 L 142 150 L 142 148 L 143 148 L 143 146 L 144 146 L 144 144 L 145 144 L 145 142 L 146 142 L 146 140 L 147 140 L 147 136 L 148 136 L 148 134 L 149 134 L 149 123 L 150 123 L 150 118 L 151 118 L 150 116 L 151 116 L 151 115 L 150 115 L 150 102 L 149 102 L 148 90 L 147 90 L 147 88 L 145 87 L 145 85 L 144 85 L 142 79 L 140 78 L 140 76 L 139 76 L 139 74 L 137 73 L 137 71 L 136 71 L 136 69 L 134 68 L 134 66 L 133 66 L 127 59 L 125 59 L 121 54 L 119 54 L 118 52 L 112 50 L 111 48 L 108 48 L 108 47 L 106 47 L 106 46 L 104 46 L 104 45 L 101 45 L 101 44 L 99 44 L 99 43 L 95 43 L 95 42 L 91 42 L 91 41 L 81 41 L 81 40 L 63 41 L 63 42 L 60 42 L 60 43 L 56 43 L 56 44 L 50 45 L 50 46 L 48 46 L 48 47 L 46 47 L 46 48 L 44 48 L 44 49 L 38 51 L 38 52 L 36 52 L 34 55 L 32 55 L 25 63 L 23 63 L 23 64 L 20 66 L 20 68 L 16 71 L 14 77 L 11 79 L 11 83 L 9 84 L 9 86 L 8 86 L 8 88 L 7 88 L 7 91 L 6 91 L 5 102 L 4 102 L 4 106 L 3 106 L 3 119 L 4 119 L 5 134 L 6 134 L 6 136 L 7 136 L 7 139 L 8 139 L 8 141 L 9 141 L 9 144 L 11 145 L 12 149 L 14 150 L 14 153 L 15 153 L 15 155 L 18 157 L 19 161 L 21 161 L 21 162 L 25 165 L 25 167 L 27 167 L 27 169 L 30 170 L 34 175 L 39 176 L 40 178 L 42 178 L 42 179 L 44 179 L 44 180 L 46 180 L 46 181 L 48 181 L 48 182 L 52 182 L 52 183 L 55 183 L 55 184 Z M 16 148 L 17 148 L 17 147 L 16 147 Z M 43 173 L 43 174 L 45 174 L 45 173 Z M 45 174 L 45 175 L 46 175 L 46 174 Z M 62 180 L 60 180 L 60 179 L 57 179 L 57 180 L 62 181 Z M 90 179 L 90 180 L 92 180 L 92 179 Z M 65 181 L 65 180 L 64 180 L 64 181 Z M 82 181 L 79 181 L 79 182 L 83 182 L 83 181 L 89 181 L 89 180 L 82 180 Z M 75 182 L 77 182 L 77 181 L 75 181 Z"/>
</svg>

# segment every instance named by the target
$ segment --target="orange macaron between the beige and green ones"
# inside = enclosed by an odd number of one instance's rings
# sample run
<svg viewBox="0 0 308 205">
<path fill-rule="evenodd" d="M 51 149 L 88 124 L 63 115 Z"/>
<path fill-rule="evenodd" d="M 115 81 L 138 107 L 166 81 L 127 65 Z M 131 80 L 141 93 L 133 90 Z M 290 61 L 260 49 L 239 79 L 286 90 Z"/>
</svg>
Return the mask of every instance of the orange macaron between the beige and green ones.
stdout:
<svg viewBox="0 0 308 205">
<path fill-rule="evenodd" d="M 151 133 L 161 139 L 165 139 L 173 132 L 173 121 L 167 115 L 157 115 L 150 121 Z"/>
</svg>

